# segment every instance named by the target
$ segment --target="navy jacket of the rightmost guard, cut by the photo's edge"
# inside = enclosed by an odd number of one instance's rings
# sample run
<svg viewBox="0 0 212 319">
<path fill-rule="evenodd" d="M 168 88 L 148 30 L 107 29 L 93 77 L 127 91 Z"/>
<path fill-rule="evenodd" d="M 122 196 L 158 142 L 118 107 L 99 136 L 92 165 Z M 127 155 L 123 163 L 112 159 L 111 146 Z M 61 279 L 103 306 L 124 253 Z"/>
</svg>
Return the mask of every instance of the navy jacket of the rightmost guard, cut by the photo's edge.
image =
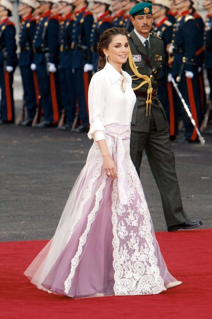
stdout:
<svg viewBox="0 0 212 319">
<path fill-rule="evenodd" d="M 212 13 L 206 16 L 204 46 L 205 46 L 205 68 L 211 69 L 212 68 Z"/>
</svg>

